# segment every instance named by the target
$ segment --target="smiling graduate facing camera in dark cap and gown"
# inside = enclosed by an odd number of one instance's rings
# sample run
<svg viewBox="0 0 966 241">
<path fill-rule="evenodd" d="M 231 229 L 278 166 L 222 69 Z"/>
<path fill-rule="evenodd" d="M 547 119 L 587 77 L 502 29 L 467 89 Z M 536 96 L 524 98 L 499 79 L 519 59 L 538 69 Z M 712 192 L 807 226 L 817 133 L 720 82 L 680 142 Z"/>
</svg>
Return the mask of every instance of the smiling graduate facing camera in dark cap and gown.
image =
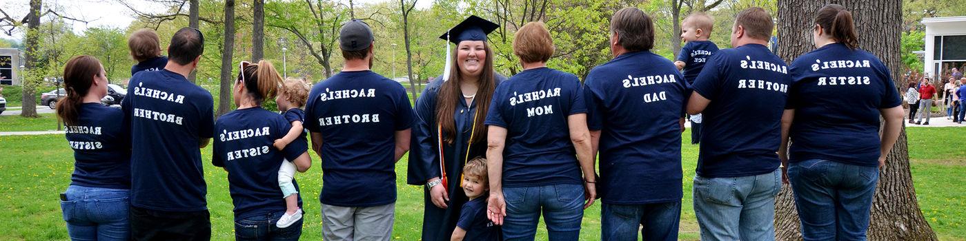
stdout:
<svg viewBox="0 0 966 241">
<path fill-rule="evenodd" d="M 423 241 L 450 239 L 468 201 L 460 187 L 463 167 L 486 156 L 483 121 L 497 85 L 506 80 L 493 70 L 494 52 L 486 42 L 498 27 L 471 15 L 440 36 L 456 49 L 449 52 L 446 43 L 446 70 L 416 100 L 407 182 L 424 186 Z"/>
</svg>

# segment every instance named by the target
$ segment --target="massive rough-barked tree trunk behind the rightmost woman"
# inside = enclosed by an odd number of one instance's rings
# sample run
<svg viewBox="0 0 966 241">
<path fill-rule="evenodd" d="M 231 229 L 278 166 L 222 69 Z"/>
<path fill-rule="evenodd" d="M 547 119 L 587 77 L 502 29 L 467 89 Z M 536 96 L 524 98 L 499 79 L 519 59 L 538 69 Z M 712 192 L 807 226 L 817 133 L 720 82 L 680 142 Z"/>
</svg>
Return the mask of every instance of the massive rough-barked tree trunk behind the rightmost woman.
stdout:
<svg viewBox="0 0 966 241">
<path fill-rule="evenodd" d="M 901 0 L 779 0 L 779 52 L 786 62 L 814 49 L 811 30 L 814 15 L 827 3 L 845 6 L 855 17 L 859 45 L 878 56 L 892 69 L 893 79 L 901 80 L 899 37 Z M 901 90 L 905 84 L 895 81 Z M 909 148 L 903 128 L 886 166 L 880 171 L 872 201 L 868 240 L 936 240 L 936 234 L 923 219 L 916 201 L 916 190 L 909 173 Z M 798 212 L 791 187 L 785 185 L 775 201 L 775 229 L 779 240 L 801 240 Z"/>
</svg>

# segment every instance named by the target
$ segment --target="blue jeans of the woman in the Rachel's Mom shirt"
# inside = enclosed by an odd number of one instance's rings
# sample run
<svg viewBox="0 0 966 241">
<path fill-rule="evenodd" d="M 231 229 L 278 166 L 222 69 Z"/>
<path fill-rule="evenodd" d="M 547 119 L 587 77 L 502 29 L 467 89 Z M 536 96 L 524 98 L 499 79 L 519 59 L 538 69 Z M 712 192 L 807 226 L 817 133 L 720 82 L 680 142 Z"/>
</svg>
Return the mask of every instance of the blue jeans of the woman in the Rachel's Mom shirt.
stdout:
<svg viewBox="0 0 966 241">
<path fill-rule="evenodd" d="M 583 219 L 583 186 L 552 184 L 503 187 L 503 240 L 533 240 L 543 213 L 550 240 L 578 240 Z"/>
</svg>

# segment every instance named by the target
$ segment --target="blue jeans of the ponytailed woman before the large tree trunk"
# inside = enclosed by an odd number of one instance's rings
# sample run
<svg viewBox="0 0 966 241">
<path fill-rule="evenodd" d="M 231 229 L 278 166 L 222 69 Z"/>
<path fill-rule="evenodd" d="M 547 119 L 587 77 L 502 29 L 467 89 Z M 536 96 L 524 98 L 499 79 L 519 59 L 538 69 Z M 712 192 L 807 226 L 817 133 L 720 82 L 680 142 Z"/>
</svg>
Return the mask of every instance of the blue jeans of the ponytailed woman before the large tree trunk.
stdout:
<svg viewBox="0 0 966 241">
<path fill-rule="evenodd" d="M 879 169 L 829 160 L 788 165 L 805 240 L 866 240 Z"/>
</svg>

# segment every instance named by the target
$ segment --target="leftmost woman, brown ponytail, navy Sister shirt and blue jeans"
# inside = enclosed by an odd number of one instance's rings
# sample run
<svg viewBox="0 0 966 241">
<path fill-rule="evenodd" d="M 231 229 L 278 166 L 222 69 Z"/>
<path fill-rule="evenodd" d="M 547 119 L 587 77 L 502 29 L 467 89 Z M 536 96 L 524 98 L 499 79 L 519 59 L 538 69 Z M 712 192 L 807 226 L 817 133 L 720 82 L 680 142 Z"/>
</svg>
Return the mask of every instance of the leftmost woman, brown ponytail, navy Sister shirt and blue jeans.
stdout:
<svg viewBox="0 0 966 241">
<path fill-rule="evenodd" d="M 64 67 L 67 97 L 57 103 L 73 148 L 71 185 L 61 209 L 72 240 L 128 240 L 130 142 L 121 109 L 100 104 L 107 76 L 97 58 L 71 58 Z"/>
</svg>

